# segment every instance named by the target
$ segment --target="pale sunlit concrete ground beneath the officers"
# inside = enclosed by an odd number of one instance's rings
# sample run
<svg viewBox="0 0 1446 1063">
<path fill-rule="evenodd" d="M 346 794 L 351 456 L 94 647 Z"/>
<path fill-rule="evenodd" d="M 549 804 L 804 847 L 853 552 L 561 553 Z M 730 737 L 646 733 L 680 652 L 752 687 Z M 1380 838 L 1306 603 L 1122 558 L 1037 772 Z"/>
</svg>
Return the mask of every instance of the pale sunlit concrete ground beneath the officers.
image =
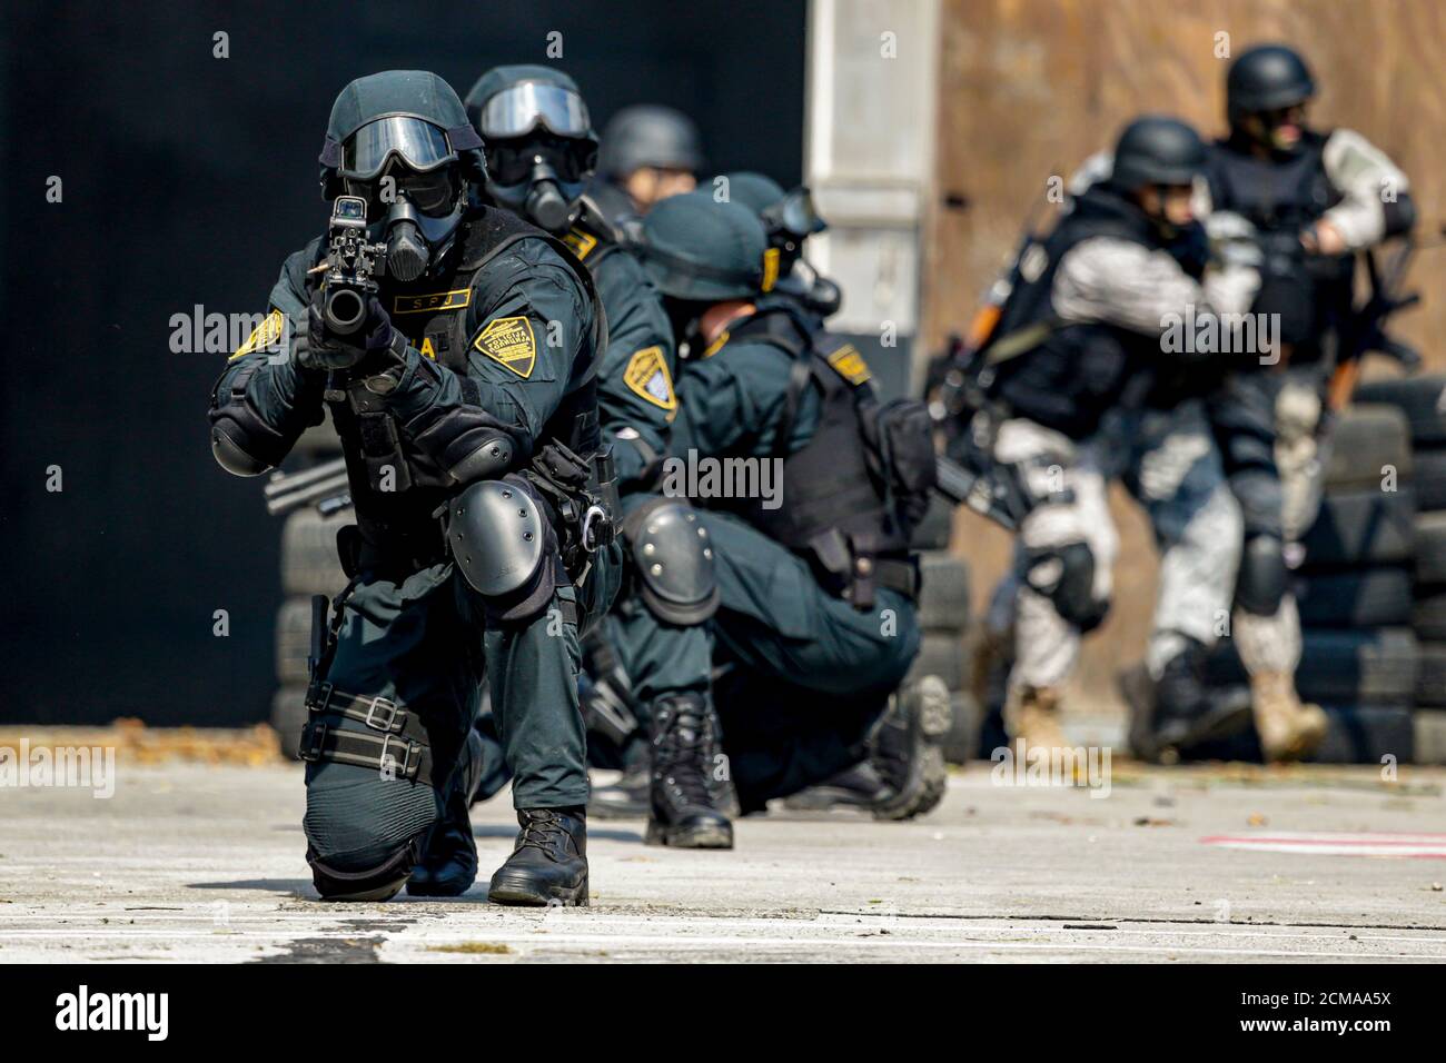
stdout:
<svg viewBox="0 0 1446 1063">
<path fill-rule="evenodd" d="M 1446 959 L 1446 772 L 1113 768 L 1092 797 L 976 765 L 915 823 L 775 808 L 732 853 L 594 820 L 591 908 L 529 911 L 486 902 L 505 798 L 466 897 L 328 905 L 298 768 L 123 762 L 110 800 L 0 790 L 0 962 Z"/>
</svg>

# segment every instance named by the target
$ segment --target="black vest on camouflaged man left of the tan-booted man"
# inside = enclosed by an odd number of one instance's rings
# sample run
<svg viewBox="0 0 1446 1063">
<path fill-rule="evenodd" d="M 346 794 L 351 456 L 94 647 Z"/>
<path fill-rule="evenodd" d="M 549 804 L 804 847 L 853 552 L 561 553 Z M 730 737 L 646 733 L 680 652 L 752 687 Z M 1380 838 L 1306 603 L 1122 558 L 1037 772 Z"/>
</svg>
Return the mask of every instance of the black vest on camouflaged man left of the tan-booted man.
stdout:
<svg viewBox="0 0 1446 1063">
<path fill-rule="evenodd" d="M 1074 201 L 1043 242 L 1019 256 L 1017 278 L 989 344 L 1024 340 L 1024 353 L 993 367 L 989 393 L 1012 415 L 1082 440 L 1106 411 L 1145 402 L 1158 360 L 1155 337 L 1105 324 L 1063 321 L 1054 309 L 1054 275 L 1074 246 L 1096 236 L 1158 249 L 1150 221 L 1134 204 L 1096 185 Z M 1034 337 L 1032 341 L 1028 337 Z"/>
</svg>

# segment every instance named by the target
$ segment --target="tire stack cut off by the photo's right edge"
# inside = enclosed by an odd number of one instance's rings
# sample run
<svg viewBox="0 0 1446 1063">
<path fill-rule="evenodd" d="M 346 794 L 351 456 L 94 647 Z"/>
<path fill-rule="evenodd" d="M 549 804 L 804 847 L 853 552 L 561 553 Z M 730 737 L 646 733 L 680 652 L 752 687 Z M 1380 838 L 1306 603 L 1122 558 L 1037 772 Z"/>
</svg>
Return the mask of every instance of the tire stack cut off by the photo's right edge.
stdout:
<svg viewBox="0 0 1446 1063">
<path fill-rule="evenodd" d="M 1372 380 L 1355 398 L 1390 405 L 1410 431 L 1417 502 L 1411 628 L 1420 642 L 1414 759 L 1446 764 L 1446 375 Z"/>
</svg>

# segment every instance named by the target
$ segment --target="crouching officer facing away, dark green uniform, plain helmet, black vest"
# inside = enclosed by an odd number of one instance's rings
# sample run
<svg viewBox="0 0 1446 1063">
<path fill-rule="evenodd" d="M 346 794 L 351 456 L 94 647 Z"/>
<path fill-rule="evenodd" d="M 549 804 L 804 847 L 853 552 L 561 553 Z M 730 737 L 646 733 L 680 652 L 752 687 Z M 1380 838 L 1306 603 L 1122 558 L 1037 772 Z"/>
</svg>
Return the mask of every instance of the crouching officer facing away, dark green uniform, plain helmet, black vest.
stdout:
<svg viewBox="0 0 1446 1063">
<path fill-rule="evenodd" d="M 927 414 L 901 421 L 857 350 L 762 304 L 777 256 L 748 208 L 677 195 L 643 237 L 688 347 L 662 490 L 706 506 L 723 748 L 755 811 L 868 758 L 891 697 L 907 729 L 937 730 L 937 709 L 895 697 L 920 645 L 908 537 L 934 469 Z M 928 781 L 917 758 L 902 768 L 892 795 L 912 806 Z"/>
</svg>

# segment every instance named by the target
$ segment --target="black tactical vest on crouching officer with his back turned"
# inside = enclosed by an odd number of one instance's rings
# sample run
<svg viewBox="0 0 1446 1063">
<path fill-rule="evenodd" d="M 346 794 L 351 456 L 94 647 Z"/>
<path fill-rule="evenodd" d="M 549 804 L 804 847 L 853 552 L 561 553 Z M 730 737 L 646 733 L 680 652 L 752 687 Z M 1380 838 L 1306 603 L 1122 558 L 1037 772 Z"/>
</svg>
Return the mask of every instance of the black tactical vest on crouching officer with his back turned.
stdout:
<svg viewBox="0 0 1446 1063">
<path fill-rule="evenodd" d="M 772 457 L 782 460 L 777 509 L 763 499 L 707 499 L 743 516 L 771 539 L 808 557 L 837 593 L 868 576 L 878 561 L 908 555 L 908 529 L 889 500 L 886 470 L 869 424 L 878 401 L 869 367 L 853 344 L 826 331 L 808 331 L 803 315 L 784 305 L 761 308 L 729 328 L 729 341 L 765 341 L 791 363 L 784 414 L 775 425 Z M 727 357 L 724 344 L 714 357 Z M 818 424 L 790 453 L 803 393 L 818 395 Z M 859 594 L 855 605 L 863 606 Z"/>
</svg>

